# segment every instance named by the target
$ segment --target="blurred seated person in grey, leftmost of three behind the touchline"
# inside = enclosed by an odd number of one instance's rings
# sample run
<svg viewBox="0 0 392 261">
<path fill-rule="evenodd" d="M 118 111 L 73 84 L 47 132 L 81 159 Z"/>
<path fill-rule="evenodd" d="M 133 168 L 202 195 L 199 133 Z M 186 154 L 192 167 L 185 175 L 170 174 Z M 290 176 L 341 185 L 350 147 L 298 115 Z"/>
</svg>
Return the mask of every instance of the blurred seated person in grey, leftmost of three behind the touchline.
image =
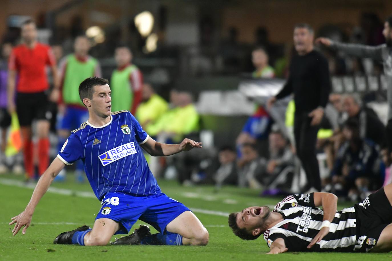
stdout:
<svg viewBox="0 0 392 261">
<path fill-rule="evenodd" d="M 237 154 L 234 148 L 230 146 L 220 148 L 218 152 L 220 167 L 213 177 L 217 187 L 238 184 L 236 158 Z"/>
</svg>

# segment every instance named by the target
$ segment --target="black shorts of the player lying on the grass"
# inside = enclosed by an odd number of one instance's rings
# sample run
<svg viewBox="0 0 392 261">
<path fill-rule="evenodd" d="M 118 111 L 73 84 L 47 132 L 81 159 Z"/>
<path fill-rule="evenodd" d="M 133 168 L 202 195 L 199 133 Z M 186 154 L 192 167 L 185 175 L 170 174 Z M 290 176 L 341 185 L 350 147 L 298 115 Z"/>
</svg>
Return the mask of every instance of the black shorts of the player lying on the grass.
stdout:
<svg viewBox="0 0 392 261">
<path fill-rule="evenodd" d="M 384 188 L 354 205 L 357 225 L 357 252 L 368 252 L 377 244 L 383 229 L 392 223 L 392 206 Z"/>
</svg>

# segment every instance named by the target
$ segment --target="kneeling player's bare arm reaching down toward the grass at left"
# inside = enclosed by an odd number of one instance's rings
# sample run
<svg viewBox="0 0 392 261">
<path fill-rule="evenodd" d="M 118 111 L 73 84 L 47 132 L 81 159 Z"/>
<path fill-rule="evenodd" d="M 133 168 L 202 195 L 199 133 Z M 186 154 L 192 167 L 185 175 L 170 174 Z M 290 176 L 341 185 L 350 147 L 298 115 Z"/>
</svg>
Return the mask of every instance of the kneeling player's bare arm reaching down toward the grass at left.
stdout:
<svg viewBox="0 0 392 261">
<path fill-rule="evenodd" d="M 44 172 L 44 174 L 42 174 L 40 180 L 38 180 L 38 183 L 35 186 L 33 196 L 31 196 L 30 202 L 27 204 L 25 210 L 18 216 L 11 218 L 12 221 L 8 224 L 15 224 L 15 227 L 12 230 L 13 236 L 18 234 L 19 230 L 22 227 L 24 227 L 24 229 L 22 230 L 22 234 L 26 233 L 26 229 L 31 223 L 31 217 L 33 216 L 36 205 L 38 204 L 42 196 L 44 196 L 50 184 L 53 182 L 54 177 L 57 176 L 57 174 L 64 168 L 64 166 L 65 164 L 56 157 L 53 160 L 52 164 L 50 164 L 48 169 Z"/>
</svg>

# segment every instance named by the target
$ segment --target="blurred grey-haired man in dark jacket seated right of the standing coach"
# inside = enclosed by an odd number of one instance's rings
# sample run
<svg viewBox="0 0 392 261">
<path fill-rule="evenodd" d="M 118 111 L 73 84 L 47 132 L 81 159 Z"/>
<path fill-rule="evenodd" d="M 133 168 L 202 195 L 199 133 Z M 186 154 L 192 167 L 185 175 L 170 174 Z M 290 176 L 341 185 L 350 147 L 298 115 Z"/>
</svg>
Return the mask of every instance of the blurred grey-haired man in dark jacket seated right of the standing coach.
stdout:
<svg viewBox="0 0 392 261">
<path fill-rule="evenodd" d="M 360 106 L 360 101 L 353 95 L 347 95 L 343 100 L 343 108 L 348 119 L 359 122 L 359 137 L 369 139 L 383 146 L 385 142 L 385 126 L 378 118 L 376 112 L 367 106 Z"/>
</svg>

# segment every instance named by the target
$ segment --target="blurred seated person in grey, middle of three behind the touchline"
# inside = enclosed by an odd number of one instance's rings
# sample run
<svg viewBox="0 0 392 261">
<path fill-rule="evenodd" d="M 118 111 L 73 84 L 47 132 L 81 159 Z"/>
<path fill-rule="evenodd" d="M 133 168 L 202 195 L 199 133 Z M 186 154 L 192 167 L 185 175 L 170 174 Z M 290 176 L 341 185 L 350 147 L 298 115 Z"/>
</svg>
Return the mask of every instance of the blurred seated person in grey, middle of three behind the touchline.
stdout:
<svg viewBox="0 0 392 261">
<path fill-rule="evenodd" d="M 252 189 L 262 188 L 263 161 L 259 157 L 256 146 L 245 143 L 241 147 L 241 158 L 238 160 L 238 185 Z"/>
</svg>

